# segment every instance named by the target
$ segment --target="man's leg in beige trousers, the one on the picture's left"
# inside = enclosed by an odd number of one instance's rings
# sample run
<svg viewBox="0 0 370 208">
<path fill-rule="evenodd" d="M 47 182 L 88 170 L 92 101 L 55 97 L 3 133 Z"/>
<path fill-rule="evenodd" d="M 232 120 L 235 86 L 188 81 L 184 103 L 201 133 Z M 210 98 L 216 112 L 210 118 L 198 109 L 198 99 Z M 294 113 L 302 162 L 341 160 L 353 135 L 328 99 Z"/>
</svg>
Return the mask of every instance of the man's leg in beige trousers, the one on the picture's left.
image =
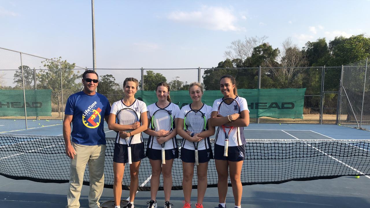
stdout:
<svg viewBox="0 0 370 208">
<path fill-rule="evenodd" d="M 67 194 L 67 208 L 78 208 L 80 207 L 80 195 L 82 182 L 84 180 L 84 172 L 87 161 L 90 158 L 90 146 L 79 145 L 72 142 L 72 146 L 76 151 L 74 159 L 71 159 L 71 172 L 69 190 Z"/>
</svg>

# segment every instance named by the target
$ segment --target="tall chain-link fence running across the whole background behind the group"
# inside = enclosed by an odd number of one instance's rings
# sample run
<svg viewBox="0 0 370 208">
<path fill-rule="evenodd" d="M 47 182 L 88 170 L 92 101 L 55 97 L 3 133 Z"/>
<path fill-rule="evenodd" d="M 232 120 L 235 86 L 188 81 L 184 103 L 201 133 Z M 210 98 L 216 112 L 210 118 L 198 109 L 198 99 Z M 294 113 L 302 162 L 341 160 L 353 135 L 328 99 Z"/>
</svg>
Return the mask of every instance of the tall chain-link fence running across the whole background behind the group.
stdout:
<svg viewBox="0 0 370 208">
<path fill-rule="evenodd" d="M 194 81 L 202 83 L 205 90 L 219 90 L 219 78 L 230 74 L 236 78 L 240 89 L 306 88 L 303 119 L 253 115 L 251 123 L 340 123 L 364 128 L 369 124 L 369 108 L 366 104 L 370 103 L 370 94 L 362 93 L 369 92 L 370 88 L 369 81 L 365 83 L 364 80 L 366 76 L 369 80 L 365 62 L 344 66 L 343 70 L 342 67 L 95 70 L 99 74 L 97 91 L 105 95 L 110 103 L 124 97 L 123 82 L 126 77 L 136 78 L 139 90 L 152 90 L 154 93 L 157 83 L 161 81 L 169 83 L 171 91 L 188 90 L 189 84 Z M 5 48 L 0 48 L 0 63 L 0 132 L 14 130 L 14 127 L 18 130 L 62 124 L 66 100 L 71 94 L 82 90 L 81 78 L 87 70 L 58 59 Z M 248 101 L 248 97 L 246 99 Z M 362 111 L 354 110 L 350 105 L 356 106 L 356 109 L 362 107 Z M 15 107 L 16 111 L 9 111 L 11 107 Z"/>
</svg>

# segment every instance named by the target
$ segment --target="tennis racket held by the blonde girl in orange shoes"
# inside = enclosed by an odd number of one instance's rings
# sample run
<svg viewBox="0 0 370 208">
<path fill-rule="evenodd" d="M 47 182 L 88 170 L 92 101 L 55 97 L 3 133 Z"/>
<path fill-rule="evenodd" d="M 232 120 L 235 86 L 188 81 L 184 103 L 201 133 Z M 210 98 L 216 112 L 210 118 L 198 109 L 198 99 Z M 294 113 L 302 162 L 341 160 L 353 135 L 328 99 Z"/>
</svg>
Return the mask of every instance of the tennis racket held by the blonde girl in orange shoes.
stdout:
<svg viewBox="0 0 370 208">
<path fill-rule="evenodd" d="M 198 134 L 206 130 L 207 120 L 205 115 L 199 110 L 191 110 L 186 113 L 184 118 L 184 129 Z M 193 142 L 195 150 L 195 165 L 199 165 L 198 159 L 198 143 Z"/>
</svg>

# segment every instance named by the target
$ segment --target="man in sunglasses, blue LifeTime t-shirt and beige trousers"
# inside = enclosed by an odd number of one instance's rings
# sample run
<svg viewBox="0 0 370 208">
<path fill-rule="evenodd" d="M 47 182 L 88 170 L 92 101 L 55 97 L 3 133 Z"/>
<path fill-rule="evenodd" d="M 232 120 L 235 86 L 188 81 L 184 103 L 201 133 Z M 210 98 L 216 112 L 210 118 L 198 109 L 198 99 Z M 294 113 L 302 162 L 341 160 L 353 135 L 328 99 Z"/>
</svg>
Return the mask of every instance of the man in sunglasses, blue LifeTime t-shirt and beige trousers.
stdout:
<svg viewBox="0 0 370 208">
<path fill-rule="evenodd" d="M 89 207 L 100 207 L 104 188 L 105 133 L 104 118 L 108 122 L 111 105 L 95 90 L 98 74 L 87 70 L 82 76 L 84 90 L 71 95 L 65 105 L 63 137 L 65 154 L 71 158 L 67 208 L 80 207 L 81 188 L 86 164 L 89 164 Z M 73 125 L 71 132 L 71 123 Z M 72 140 L 72 141 L 71 141 Z"/>
</svg>

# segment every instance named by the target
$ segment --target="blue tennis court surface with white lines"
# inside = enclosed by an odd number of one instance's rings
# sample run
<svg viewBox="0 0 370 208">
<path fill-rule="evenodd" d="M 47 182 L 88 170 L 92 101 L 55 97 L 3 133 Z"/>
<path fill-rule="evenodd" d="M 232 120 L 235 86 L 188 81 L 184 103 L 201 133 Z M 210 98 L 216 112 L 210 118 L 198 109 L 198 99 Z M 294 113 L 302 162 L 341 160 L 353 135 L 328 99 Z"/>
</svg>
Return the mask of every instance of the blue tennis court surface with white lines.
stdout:
<svg viewBox="0 0 370 208">
<path fill-rule="evenodd" d="M 38 125 L 38 123 L 37 123 Z M 41 124 L 40 124 L 41 125 Z M 108 130 L 107 137 L 115 137 L 115 132 Z M 61 125 L 49 125 L 9 132 L 12 134 L 30 135 L 61 135 Z M 246 139 L 305 139 L 305 140 L 367 140 L 370 131 L 338 125 L 316 124 L 250 124 L 245 128 Z M 144 138 L 147 135 L 144 135 Z M 111 168 L 111 167 L 106 167 Z M 210 167 L 215 168 L 215 167 Z M 370 207 L 368 194 L 370 177 L 345 176 L 334 179 L 320 179 L 313 181 L 290 181 L 282 184 L 256 184 L 243 186 L 242 207 L 262 208 L 304 208 L 304 207 Z M 12 180 L 0 176 L 0 206 L 1 207 L 44 207 L 62 208 L 66 205 L 68 183 L 38 183 L 27 180 Z M 81 207 L 88 207 L 88 186 L 83 186 L 81 192 Z M 122 199 L 128 198 L 129 191 L 123 191 Z M 196 189 L 192 190 L 192 207 L 196 203 Z M 100 202 L 113 199 L 113 190 L 104 188 Z M 139 191 L 135 198 L 135 207 L 146 208 L 150 200 L 149 191 Z M 184 194 L 182 190 L 171 192 L 173 207 L 182 207 Z M 164 192 L 158 191 L 157 202 L 163 207 Z M 205 208 L 218 205 L 217 188 L 207 188 L 203 201 Z M 234 200 L 232 188 L 228 188 L 226 198 L 228 208 L 233 208 Z"/>
</svg>

